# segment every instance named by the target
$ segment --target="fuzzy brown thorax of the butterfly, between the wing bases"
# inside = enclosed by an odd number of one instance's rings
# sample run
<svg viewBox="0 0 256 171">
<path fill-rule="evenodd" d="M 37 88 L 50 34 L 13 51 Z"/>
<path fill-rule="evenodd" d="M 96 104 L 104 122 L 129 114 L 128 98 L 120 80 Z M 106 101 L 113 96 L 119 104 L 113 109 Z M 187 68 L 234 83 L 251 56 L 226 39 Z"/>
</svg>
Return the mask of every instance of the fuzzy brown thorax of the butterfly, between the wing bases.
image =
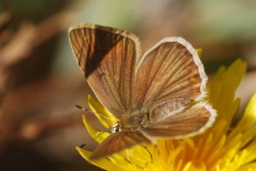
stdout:
<svg viewBox="0 0 256 171">
<path fill-rule="evenodd" d="M 135 130 L 144 127 L 150 121 L 148 113 L 123 114 L 121 117 L 121 129 Z"/>
</svg>

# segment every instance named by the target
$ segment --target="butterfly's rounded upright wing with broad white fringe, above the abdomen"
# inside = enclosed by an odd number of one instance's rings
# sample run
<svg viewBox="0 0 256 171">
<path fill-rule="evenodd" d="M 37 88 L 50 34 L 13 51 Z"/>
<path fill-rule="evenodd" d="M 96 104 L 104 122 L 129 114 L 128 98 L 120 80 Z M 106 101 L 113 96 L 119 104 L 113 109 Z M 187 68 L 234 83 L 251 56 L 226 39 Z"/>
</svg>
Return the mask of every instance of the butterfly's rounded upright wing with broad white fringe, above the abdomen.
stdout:
<svg viewBox="0 0 256 171">
<path fill-rule="evenodd" d="M 190 103 L 202 97 L 206 74 L 197 54 L 187 46 L 182 38 L 166 38 L 144 55 L 136 70 L 134 101 L 138 107 L 150 109 L 178 99 Z"/>
</svg>

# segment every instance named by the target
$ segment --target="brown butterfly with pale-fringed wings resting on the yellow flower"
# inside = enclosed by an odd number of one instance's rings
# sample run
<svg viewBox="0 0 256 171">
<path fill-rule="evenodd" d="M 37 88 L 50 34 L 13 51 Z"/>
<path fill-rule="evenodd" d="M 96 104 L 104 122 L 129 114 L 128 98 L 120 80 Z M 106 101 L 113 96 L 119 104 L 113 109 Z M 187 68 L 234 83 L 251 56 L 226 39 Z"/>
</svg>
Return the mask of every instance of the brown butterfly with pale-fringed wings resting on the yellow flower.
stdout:
<svg viewBox="0 0 256 171">
<path fill-rule="evenodd" d="M 207 77 L 196 50 L 183 38 L 164 38 L 142 55 L 129 32 L 90 23 L 72 26 L 70 44 L 99 101 L 120 118 L 90 156 L 106 157 L 155 137 L 202 133 L 216 111 L 206 97 Z"/>
</svg>

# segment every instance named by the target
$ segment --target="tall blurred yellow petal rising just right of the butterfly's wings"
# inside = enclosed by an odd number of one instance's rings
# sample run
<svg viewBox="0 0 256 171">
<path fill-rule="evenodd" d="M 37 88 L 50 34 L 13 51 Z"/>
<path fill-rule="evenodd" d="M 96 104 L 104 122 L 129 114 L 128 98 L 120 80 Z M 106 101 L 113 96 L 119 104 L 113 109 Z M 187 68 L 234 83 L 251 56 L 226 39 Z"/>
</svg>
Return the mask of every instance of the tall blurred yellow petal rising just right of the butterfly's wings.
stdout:
<svg viewBox="0 0 256 171">
<path fill-rule="evenodd" d="M 217 76 L 209 82 L 210 102 L 218 111 L 218 120 L 226 120 L 225 133 L 236 113 L 239 100 L 235 98 L 235 91 L 246 72 L 246 63 L 236 60 L 228 69 L 221 67 Z"/>
</svg>

